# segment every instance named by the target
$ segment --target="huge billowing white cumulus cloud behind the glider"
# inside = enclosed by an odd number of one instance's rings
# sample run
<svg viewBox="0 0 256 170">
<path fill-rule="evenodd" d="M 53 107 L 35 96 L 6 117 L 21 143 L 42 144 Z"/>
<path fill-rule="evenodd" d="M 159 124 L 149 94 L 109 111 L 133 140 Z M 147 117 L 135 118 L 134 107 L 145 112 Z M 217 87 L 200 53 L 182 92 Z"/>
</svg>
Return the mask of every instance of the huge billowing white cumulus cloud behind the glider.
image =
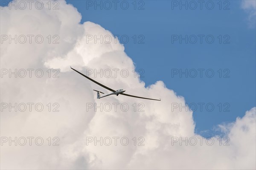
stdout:
<svg viewBox="0 0 256 170">
<path fill-rule="evenodd" d="M 195 133 L 191 111 L 170 108 L 170 103 L 185 105 L 185 99 L 158 81 L 145 88 L 145 83 L 131 74 L 134 63 L 125 54 L 124 46 L 112 33 L 96 23 L 80 24 L 81 14 L 72 5 L 59 1 L 59 10 L 44 8 L 1 9 L 1 35 L 41 35 L 44 42 L 1 43 L 1 69 L 42 69 L 44 76 L 1 78 L 1 103 L 42 103 L 44 110 L 24 112 L 2 107 L 1 137 L 41 137 L 44 144 L 15 146 L 4 142 L 1 146 L 2 169 L 255 169 L 256 108 L 247 111 L 235 122 L 219 127 L 227 139 L 219 143 L 220 136 L 211 140 Z M 13 2 L 12 2 L 13 3 Z M 52 1 L 53 3 L 53 1 Z M 58 35 L 58 44 L 49 43 L 47 36 Z M 88 35 L 113 37 L 110 43 L 87 41 Z M 3 37 L 1 37 L 3 38 Z M 141 100 L 126 96 L 96 99 L 92 89 L 102 89 L 70 70 L 70 65 L 80 71 L 88 69 L 127 69 L 128 77 L 96 76 L 93 79 L 113 89 L 124 88 L 130 94 L 157 97 L 162 101 Z M 59 78 L 49 76 L 49 69 L 60 69 Z M 48 71 L 48 72 L 47 72 Z M 28 73 L 28 71 L 27 71 Z M 103 90 L 103 92 L 106 92 Z M 49 111 L 49 104 L 52 108 Z M 58 103 L 59 112 L 52 112 Z M 87 103 L 102 105 L 126 103 L 128 111 L 100 111 L 87 109 Z M 133 104 L 137 104 L 134 112 Z M 142 103 L 143 112 L 138 111 Z M 53 137 L 59 146 L 52 146 Z M 49 139 L 51 137 L 51 139 Z M 92 137 L 92 138 L 90 138 Z M 100 142 L 88 140 L 96 137 Z M 112 144 L 107 146 L 109 138 Z M 115 137 L 117 144 L 114 144 Z M 117 138 L 118 137 L 118 138 Z M 120 144 L 120 139 L 125 140 Z M 136 139 L 134 139 L 136 137 Z M 140 138 L 142 137 L 142 138 Z M 180 146 L 180 137 L 185 140 Z M 3 139 L 3 138 L 1 138 Z M 6 138 L 4 138 L 6 139 Z M 48 140 L 47 140 L 48 139 Z M 192 146 L 192 141 L 197 144 Z M 51 144 L 49 146 L 49 140 Z M 179 140 L 179 141 L 177 141 Z M 224 140 L 224 139 L 223 139 Z M 136 144 L 134 146 L 134 141 Z M 105 142 L 105 143 L 104 143 Z M 207 144 L 208 142 L 208 144 Z M 229 145 L 224 146 L 225 142 Z M 108 143 L 108 142 L 107 142 Z M 202 144 L 201 144 L 202 143 Z M 124 146 L 125 145 L 125 146 Z M 140 146 L 142 145 L 142 146 Z M 210 145 L 210 146 L 209 146 Z M 220 146 L 221 145 L 221 146 Z"/>
</svg>

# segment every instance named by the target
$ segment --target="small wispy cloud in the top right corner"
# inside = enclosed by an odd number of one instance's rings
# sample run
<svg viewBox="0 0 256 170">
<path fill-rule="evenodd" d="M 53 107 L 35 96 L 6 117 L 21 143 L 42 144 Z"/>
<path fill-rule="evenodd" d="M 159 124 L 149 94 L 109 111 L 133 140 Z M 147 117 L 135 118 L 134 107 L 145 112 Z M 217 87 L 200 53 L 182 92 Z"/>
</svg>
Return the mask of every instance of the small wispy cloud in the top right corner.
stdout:
<svg viewBox="0 0 256 170">
<path fill-rule="evenodd" d="M 255 0 L 242 0 L 242 9 L 247 12 L 250 27 L 255 27 L 256 24 L 256 1 Z"/>
</svg>

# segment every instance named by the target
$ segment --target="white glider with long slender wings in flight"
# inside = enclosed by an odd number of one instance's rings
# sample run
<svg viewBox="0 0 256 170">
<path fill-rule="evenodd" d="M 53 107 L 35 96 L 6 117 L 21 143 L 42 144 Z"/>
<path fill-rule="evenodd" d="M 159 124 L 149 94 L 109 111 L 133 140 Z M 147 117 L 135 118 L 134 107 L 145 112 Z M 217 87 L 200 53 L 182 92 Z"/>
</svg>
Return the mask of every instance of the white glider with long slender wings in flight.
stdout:
<svg viewBox="0 0 256 170">
<path fill-rule="evenodd" d="M 149 99 L 149 98 L 145 98 L 145 97 L 139 97 L 139 96 L 133 96 L 133 95 L 130 95 L 130 94 L 124 94 L 124 92 L 125 92 L 124 89 L 119 89 L 119 90 L 115 91 L 115 90 L 113 90 L 113 89 L 111 89 L 111 88 L 108 88 L 108 87 L 105 86 L 105 85 L 100 84 L 99 82 L 96 82 L 95 80 L 91 79 L 90 77 L 85 76 L 84 74 L 82 74 L 82 73 L 80 73 L 79 71 L 75 70 L 75 69 L 72 68 L 71 66 L 70 66 L 70 68 L 73 69 L 74 71 L 78 72 L 78 73 L 81 74 L 82 76 L 86 77 L 86 78 L 89 79 L 90 81 L 95 82 L 96 84 L 102 86 L 102 87 L 105 88 L 105 89 L 108 89 L 109 91 L 112 91 L 111 94 L 107 94 L 107 95 L 105 95 L 105 96 L 101 96 L 101 93 L 102 93 L 102 92 L 101 92 L 101 91 L 97 91 L 97 99 L 100 99 L 100 98 L 106 97 L 106 96 L 110 96 L 110 95 L 113 95 L 113 94 L 115 94 L 116 96 L 118 96 L 119 94 L 122 94 L 122 95 L 125 95 L 125 96 L 137 97 L 137 98 L 140 98 L 140 99 Z M 96 90 L 94 90 L 94 91 L 96 91 Z M 102 93 L 102 94 L 104 94 L 104 93 Z M 158 99 L 149 99 L 149 100 L 158 100 Z M 158 101 L 161 101 L 161 99 L 158 100 Z"/>
</svg>

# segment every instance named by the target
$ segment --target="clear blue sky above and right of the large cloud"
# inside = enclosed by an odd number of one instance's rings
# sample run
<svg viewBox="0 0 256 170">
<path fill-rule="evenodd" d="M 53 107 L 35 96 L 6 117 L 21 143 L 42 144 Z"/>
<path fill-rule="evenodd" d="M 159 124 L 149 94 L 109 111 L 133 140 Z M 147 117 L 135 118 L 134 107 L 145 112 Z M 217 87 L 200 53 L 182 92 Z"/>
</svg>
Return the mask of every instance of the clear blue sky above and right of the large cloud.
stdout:
<svg viewBox="0 0 256 170">
<path fill-rule="evenodd" d="M 115 35 L 129 37 L 130 41 L 124 45 L 125 52 L 133 59 L 137 69 L 145 71 L 141 79 L 146 86 L 162 80 L 167 88 L 183 96 L 188 104 L 199 106 L 198 103 L 204 103 L 202 111 L 198 108 L 193 113 L 196 132 L 202 136 L 213 136 L 218 133 L 214 130 L 216 125 L 233 122 L 256 106 L 255 21 L 250 23 L 247 20 L 248 14 L 241 8 L 240 0 L 221 1 L 221 7 L 219 1 L 211 1 L 214 4 L 212 10 L 207 9 L 205 3 L 202 9 L 198 6 L 195 10 L 186 10 L 185 7 L 180 10 L 168 0 L 136 1 L 135 10 L 133 0 L 125 1 L 129 4 L 127 10 L 120 6 L 123 1 L 119 1 L 117 9 L 112 3 L 110 10 L 104 6 L 102 9 L 88 6 L 89 1 L 67 2 L 81 13 L 81 23 L 91 21 Z M 96 1 L 90 2 L 94 5 Z M 139 7 L 142 10 L 138 10 Z M 224 7 L 228 9 L 224 10 Z M 134 35 L 136 43 L 132 39 Z M 199 38 L 195 44 L 185 40 L 172 43 L 175 35 L 204 37 L 202 43 Z M 205 40 L 208 35 L 214 37 L 212 44 Z M 142 37 L 144 43 L 139 44 L 138 40 Z M 207 77 L 205 71 L 202 77 L 198 75 L 195 78 L 172 75 L 172 71 L 180 69 L 210 69 L 214 71 L 214 76 Z M 205 107 L 208 103 L 215 107 L 211 112 Z M 228 112 L 224 111 L 225 108 Z"/>
</svg>

